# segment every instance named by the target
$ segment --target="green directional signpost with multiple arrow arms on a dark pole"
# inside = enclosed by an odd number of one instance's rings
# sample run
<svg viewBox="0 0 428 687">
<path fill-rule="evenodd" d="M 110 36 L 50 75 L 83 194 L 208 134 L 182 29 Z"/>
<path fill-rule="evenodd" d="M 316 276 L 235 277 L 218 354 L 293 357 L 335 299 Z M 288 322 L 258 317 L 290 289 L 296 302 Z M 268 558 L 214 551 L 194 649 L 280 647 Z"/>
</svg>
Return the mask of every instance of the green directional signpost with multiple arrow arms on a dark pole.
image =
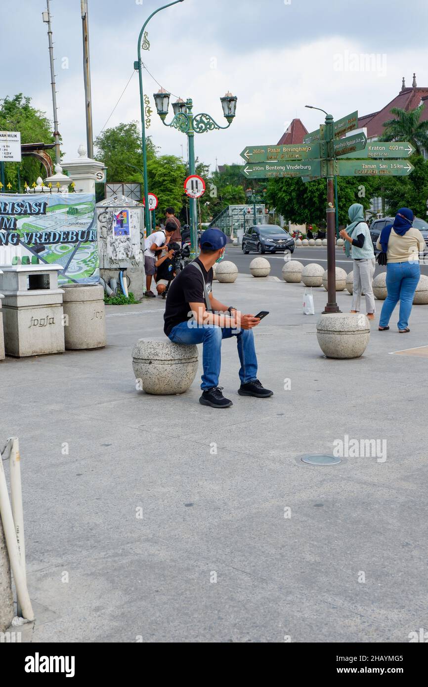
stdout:
<svg viewBox="0 0 428 687">
<path fill-rule="evenodd" d="M 414 153 L 414 147 L 401 141 L 368 143 L 363 132 L 346 135 L 358 128 L 358 111 L 336 122 L 333 115 L 325 114 L 325 123 L 307 133 L 302 144 L 247 146 L 240 155 L 246 163 L 243 174 L 247 179 L 327 179 L 328 302 L 324 313 L 339 313 L 335 278 L 336 177 L 407 176 L 414 167 L 405 158 Z"/>
</svg>

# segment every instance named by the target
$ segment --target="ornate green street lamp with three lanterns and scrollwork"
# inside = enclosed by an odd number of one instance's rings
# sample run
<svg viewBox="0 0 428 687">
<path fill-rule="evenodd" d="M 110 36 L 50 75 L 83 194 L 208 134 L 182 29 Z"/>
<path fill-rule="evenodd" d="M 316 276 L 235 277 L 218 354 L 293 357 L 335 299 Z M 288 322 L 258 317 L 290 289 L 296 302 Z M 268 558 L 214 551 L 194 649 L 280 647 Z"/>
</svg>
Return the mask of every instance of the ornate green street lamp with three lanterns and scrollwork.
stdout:
<svg viewBox="0 0 428 687">
<path fill-rule="evenodd" d="M 195 161 L 194 161 L 194 135 L 195 133 L 205 133 L 205 131 L 214 131 L 214 129 L 226 129 L 232 124 L 235 113 L 236 113 L 236 95 L 232 93 L 226 93 L 223 98 L 220 98 L 221 105 L 223 107 L 223 115 L 227 121 L 227 126 L 220 126 L 212 118 L 211 115 L 202 112 L 199 115 L 193 114 L 193 101 L 188 98 L 186 102 L 179 98 L 176 102 L 172 103 L 172 110 L 174 111 L 174 118 L 170 124 L 166 123 L 166 116 L 168 115 L 168 108 L 170 104 L 171 94 L 164 89 L 160 89 L 157 93 L 153 93 L 155 98 L 156 109 L 159 117 L 165 126 L 172 126 L 176 128 L 177 131 L 185 133 L 188 137 L 188 148 L 189 148 L 189 172 L 190 174 L 195 174 Z M 196 199 L 190 198 L 190 230 L 191 230 L 191 240 L 192 240 L 192 252 L 191 256 L 196 256 L 196 249 L 198 247 L 198 233 L 197 233 L 197 211 L 196 211 Z"/>
</svg>

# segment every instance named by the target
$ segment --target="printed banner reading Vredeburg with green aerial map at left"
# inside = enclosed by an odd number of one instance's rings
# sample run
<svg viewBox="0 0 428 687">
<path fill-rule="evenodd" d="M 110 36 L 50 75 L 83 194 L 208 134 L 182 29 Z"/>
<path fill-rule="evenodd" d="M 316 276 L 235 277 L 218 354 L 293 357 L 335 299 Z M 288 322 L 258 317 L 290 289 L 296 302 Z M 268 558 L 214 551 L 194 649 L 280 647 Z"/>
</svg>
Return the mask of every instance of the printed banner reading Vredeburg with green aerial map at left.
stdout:
<svg viewBox="0 0 428 687">
<path fill-rule="evenodd" d="M 94 210 L 92 194 L 0 195 L 0 249 L 21 246 L 21 255 L 61 264 L 61 284 L 97 284 Z"/>
</svg>

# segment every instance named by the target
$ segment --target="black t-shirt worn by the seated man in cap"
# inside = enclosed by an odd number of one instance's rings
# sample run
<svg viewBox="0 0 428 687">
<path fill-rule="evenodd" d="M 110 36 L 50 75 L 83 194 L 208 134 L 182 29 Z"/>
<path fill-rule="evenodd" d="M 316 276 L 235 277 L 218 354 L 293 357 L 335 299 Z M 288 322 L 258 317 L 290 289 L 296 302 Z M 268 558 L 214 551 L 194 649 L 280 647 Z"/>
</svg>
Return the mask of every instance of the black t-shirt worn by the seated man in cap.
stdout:
<svg viewBox="0 0 428 687">
<path fill-rule="evenodd" d="M 208 292 L 210 292 L 214 273 L 212 269 L 207 272 L 198 258 L 195 262 L 198 262 L 201 267 L 205 284 L 207 284 Z M 164 332 L 167 336 L 172 327 L 180 324 L 180 322 L 187 322 L 192 317 L 189 315 L 190 303 L 205 303 L 205 296 L 201 272 L 188 264 L 174 279 L 168 291 L 164 315 Z"/>
</svg>

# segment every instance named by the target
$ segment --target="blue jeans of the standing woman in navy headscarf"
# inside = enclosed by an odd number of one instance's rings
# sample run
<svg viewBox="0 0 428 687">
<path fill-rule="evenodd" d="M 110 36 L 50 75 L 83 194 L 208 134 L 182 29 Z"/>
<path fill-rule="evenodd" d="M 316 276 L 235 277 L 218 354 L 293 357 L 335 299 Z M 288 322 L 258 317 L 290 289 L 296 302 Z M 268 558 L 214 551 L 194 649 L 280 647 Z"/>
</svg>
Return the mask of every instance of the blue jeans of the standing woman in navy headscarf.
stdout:
<svg viewBox="0 0 428 687">
<path fill-rule="evenodd" d="M 379 326 L 386 327 L 398 301 L 400 317 L 398 329 L 405 329 L 409 324 L 413 298 L 420 279 L 420 267 L 417 260 L 409 262 L 388 262 L 386 266 L 387 297 L 383 304 Z"/>
</svg>

